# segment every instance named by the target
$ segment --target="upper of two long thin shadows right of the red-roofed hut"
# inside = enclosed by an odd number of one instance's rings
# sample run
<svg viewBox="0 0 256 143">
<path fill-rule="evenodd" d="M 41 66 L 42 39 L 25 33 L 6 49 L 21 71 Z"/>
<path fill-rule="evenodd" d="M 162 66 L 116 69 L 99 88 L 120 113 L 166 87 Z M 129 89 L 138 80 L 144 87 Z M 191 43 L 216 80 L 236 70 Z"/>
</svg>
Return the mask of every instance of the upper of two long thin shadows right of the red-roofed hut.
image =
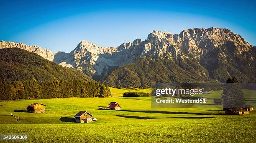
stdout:
<svg viewBox="0 0 256 143">
<path fill-rule="evenodd" d="M 163 114 L 178 114 L 178 115 L 225 115 L 225 113 L 193 113 L 193 112 L 173 112 L 173 111 L 154 111 L 154 110 L 118 110 L 125 112 L 139 113 L 163 113 Z"/>
</svg>

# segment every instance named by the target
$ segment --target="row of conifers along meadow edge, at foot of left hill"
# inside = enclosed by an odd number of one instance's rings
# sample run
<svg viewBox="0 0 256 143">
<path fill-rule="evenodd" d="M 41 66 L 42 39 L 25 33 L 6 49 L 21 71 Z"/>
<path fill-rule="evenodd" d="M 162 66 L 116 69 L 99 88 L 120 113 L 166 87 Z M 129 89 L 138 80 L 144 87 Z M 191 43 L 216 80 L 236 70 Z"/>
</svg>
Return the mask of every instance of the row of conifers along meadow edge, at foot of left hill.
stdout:
<svg viewBox="0 0 256 143">
<path fill-rule="evenodd" d="M 100 97 L 111 94 L 108 85 L 82 80 L 10 82 L 0 79 L 0 89 L 0 100 Z"/>
</svg>

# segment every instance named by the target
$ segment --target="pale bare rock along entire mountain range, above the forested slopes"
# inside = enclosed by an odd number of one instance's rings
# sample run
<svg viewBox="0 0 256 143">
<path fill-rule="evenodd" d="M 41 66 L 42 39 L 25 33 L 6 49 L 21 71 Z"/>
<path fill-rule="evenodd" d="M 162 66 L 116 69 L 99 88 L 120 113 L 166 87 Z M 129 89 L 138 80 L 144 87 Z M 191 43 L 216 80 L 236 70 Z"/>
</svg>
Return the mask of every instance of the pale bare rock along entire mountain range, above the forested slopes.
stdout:
<svg viewBox="0 0 256 143">
<path fill-rule="evenodd" d="M 220 62 L 230 62 L 234 57 L 231 59 L 228 57 L 234 54 L 236 57 L 246 59 L 248 63 L 255 62 L 255 52 L 251 44 L 228 29 L 215 27 L 188 29 L 179 34 L 154 30 L 145 40 L 135 39 L 118 47 L 99 47 L 84 40 L 70 53 L 53 53 L 38 46 L 0 42 L 0 48 L 7 47 L 26 49 L 63 67 L 76 67 L 96 79 L 108 75 L 116 67 L 134 62 L 141 56 L 160 57 L 174 62 L 193 60 L 199 64 L 198 66 L 208 70 L 208 72 L 199 71 L 198 74 L 213 79 L 215 79 L 213 70 L 218 67 L 216 65 Z M 213 65 L 215 68 L 212 68 Z M 254 66 L 254 64 L 250 65 Z"/>
</svg>

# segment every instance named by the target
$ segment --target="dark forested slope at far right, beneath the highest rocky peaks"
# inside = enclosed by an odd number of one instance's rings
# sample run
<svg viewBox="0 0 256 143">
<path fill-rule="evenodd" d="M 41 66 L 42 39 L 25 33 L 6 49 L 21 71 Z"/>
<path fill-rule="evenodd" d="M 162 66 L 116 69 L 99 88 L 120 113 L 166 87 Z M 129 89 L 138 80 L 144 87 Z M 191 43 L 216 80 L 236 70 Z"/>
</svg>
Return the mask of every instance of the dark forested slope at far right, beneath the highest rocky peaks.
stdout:
<svg viewBox="0 0 256 143">
<path fill-rule="evenodd" d="M 241 82 L 256 82 L 256 48 L 242 54 L 234 49 L 234 43 L 225 44 L 202 57 L 201 65 L 209 72 L 209 78 L 225 82 L 227 78 L 237 77 Z"/>
</svg>

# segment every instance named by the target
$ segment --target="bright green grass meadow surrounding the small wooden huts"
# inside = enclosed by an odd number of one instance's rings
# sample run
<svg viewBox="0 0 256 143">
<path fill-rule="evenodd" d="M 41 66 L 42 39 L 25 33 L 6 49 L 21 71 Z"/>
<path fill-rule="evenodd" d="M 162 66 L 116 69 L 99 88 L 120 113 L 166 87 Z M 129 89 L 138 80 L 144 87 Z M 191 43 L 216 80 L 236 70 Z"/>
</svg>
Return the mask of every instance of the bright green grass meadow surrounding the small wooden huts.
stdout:
<svg viewBox="0 0 256 143">
<path fill-rule="evenodd" d="M 29 142 L 216 142 L 255 143 L 256 113 L 225 115 L 218 108 L 151 108 L 150 97 L 120 97 L 124 92 L 150 89 L 114 89 L 109 98 L 40 99 L 0 102 L 0 135 L 28 135 Z M 256 94 L 245 91 L 246 95 Z M 221 91 L 207 95 L 209 102 Z M 121 111 L 101 110 L 116 101 Z M 32 103 L 46 104 L 46 113 L 27 113 Z M 98 120 L 74 123 L 78 111 Z M 19 116 L 20 120 L 10 114 Z M 1 142 L 1 141 L 0 141 Z M 3 142 L 3 141 L 2 141 Z"/>
</svg>

